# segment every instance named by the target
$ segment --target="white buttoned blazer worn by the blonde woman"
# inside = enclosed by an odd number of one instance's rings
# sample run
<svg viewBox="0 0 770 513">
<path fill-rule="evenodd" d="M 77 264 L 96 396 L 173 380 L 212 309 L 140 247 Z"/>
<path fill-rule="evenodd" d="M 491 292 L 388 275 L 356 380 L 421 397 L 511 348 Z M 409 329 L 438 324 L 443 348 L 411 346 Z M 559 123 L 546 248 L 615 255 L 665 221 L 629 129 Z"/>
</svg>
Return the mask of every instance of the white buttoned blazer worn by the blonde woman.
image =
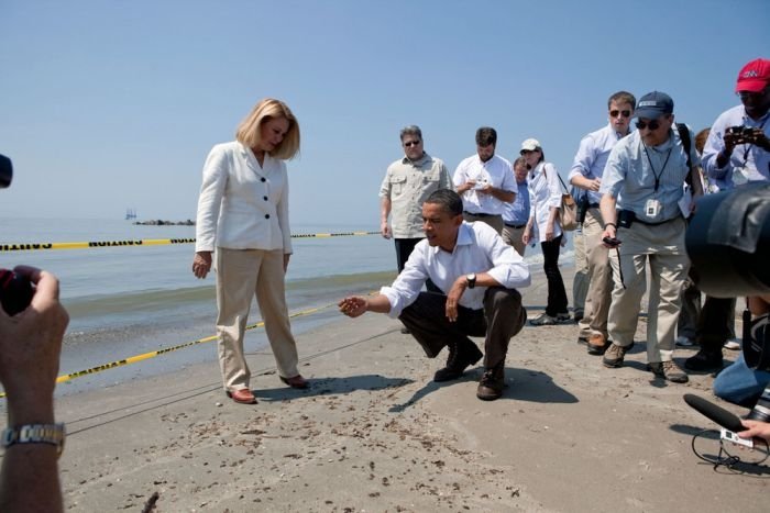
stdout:
<svg viewBox="0 0 770 513">
<path fill-rule="evenodd" d="M 286 164 L 233 141 L 216 145 L 204 165 L 196 252 L 283 249 L 292 253 Z"/>
</svg>

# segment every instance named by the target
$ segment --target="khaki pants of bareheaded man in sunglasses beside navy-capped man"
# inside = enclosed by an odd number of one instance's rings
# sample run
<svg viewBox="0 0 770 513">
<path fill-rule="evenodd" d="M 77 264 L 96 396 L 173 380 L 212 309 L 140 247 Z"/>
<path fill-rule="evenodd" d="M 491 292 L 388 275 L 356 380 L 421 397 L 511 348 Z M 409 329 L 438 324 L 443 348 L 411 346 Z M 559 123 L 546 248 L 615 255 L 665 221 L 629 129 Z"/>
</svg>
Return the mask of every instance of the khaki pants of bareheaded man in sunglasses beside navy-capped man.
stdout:
<svg viewBox="0 0 770 513">
<path fill-rule="evenodd" d="M 607 315 L 612 301 L 613 276 L 607 248 L 602 244 L 603 232 L 604 222 L 598 208 L 588 209 L 583 221 L 583 244 L 585 244 L 590 285 L 585 312 L 580 322 L 580 336 L 586 338 L 591 335 L 608 338 Z"/>
</svg>

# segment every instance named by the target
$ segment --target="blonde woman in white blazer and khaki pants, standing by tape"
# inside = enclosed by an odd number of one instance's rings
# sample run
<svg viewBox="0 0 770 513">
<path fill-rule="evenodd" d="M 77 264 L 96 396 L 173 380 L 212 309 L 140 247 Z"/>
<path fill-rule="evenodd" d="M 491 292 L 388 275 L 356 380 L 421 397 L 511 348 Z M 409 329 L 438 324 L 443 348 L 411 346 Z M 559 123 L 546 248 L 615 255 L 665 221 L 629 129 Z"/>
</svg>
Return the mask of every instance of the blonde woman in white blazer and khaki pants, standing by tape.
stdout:
<svg viewBox="0 0 770 513">
<path fill-rule="evenodd" d="M 284 160 L 299 152 L 299 124 L 284 102 L 267 98 L 241 122 L 235 140 L 216 145 L 204 165 L 193 272 L 206 278 L 216 255 L 223 387 L 233 401 L 253 404 L 243 335 L 254 294 L 280 380 L 308 386 L 297 370 L 284 290 L 292 255 Z"/>
</svg>

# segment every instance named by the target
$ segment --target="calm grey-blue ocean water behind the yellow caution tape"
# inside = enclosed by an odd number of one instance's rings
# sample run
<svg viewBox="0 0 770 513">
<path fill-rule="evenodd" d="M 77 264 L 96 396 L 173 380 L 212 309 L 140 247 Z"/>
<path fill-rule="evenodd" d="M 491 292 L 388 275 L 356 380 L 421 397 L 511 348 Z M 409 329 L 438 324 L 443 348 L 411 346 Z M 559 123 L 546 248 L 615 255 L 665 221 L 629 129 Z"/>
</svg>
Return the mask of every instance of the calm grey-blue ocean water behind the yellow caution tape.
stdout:
<svg viewBox="0 0 770 513">
<path fill-rule="evenodd" d="M 292 227 L 295 235 L 374 230 L 364 224 Z M 194 226 L 144 226 L 123 220 L 0 220 L 0 246 L 194 237 Z M 295 334 L 339 320 L 337 301 L 350 293 L 376 291 L 396 276 L 393 242 L 378 234 L 296 237 L 293 244 L 286 276 L 289 312 L 314 310 L 309 315 L 293 317 Z M 539 248 L 527 252 L 526 260 L 536 270 L 542 263 Z M 193 276 L 193 255 L 191 243 L 0 252 L 0 267 L 26 264 L 59 278 L 62 302 L 70 315 L 59 372 L 67 375 L 213 335 L 215 278 L 209 275 L 198 280 Z M 568 264 L 571 256 L 569 244 L 562 264 Z M 249 322 L 260 319 L 254 304 Z M 261 328 L 248 333 L 248 352 L 260 350 L 266 344 Z M 118 384 L 201 361 L 216 361 L 215 343 L 74 379 L 59 386 L 57 393 Z"/>
</svg>

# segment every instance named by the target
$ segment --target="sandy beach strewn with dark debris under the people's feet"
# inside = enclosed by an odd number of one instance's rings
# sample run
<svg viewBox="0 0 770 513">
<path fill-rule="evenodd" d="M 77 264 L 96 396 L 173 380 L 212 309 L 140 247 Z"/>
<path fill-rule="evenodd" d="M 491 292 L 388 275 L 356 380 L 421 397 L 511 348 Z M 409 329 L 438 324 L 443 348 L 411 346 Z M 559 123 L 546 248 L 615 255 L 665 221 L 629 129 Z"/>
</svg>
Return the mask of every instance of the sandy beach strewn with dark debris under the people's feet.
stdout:
<svg viewBox="0 0 770 513">
<path fill-rule="evenodd" d="M 536 275 L 530 317 L 544 295 Z M 606 369 L 576 325 L 527 326 L 504 397 L 483 402 L 481 368 L 433 383 L 444 354 L 427 359 L 399 328 L 340 315 L 298 335 L 306 391 L 279 382 L 270 352 L 250 354 L 255 405 L 224 397 L 216 363 L 59 398 L 66 508 L 139 512 L 156 493 L 157 512 L 767 511 L 769 467 L 715 470 L 692 451 L 715 425 L 682 394 L 713 399 L 710 375 L 656 379 L 642 343 Z"/>
</svg>

